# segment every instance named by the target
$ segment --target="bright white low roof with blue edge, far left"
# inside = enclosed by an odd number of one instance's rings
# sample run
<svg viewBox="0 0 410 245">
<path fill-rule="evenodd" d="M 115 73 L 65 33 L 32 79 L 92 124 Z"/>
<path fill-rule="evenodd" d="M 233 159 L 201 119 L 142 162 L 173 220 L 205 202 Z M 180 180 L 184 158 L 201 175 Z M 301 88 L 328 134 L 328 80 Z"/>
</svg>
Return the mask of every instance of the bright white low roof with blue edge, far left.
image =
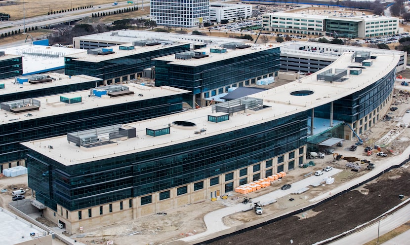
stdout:
<svg viewBox="0 0 410 245">
<path fill-rule="evenodd" d="M 10 55 L 23 56 L 23 75 L 64 69 L 64 56 L 79 52 L 74 48 L 33 44 L 4 48 L 1 51 Z"/>
</svg>

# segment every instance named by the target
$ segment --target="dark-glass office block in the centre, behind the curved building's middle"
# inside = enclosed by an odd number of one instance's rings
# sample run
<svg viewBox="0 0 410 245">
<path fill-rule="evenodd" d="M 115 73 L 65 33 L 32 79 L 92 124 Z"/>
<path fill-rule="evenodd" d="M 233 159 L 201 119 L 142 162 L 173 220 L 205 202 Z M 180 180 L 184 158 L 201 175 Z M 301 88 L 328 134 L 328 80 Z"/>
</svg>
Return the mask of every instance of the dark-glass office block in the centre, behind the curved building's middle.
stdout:
<svg viewBox="0 0 410 245">
<path fill-rule="evenodd" d="M 261 78 L 277 75 L 278 45 L 232 42 L 221 46 L 154 59 L 156 86 L 191 91 L 184 95 L 184 101 L 195 107 L 205 106 L 205 98 L 225 93 L 230 87 L 256 84 Z"/>
</svg>

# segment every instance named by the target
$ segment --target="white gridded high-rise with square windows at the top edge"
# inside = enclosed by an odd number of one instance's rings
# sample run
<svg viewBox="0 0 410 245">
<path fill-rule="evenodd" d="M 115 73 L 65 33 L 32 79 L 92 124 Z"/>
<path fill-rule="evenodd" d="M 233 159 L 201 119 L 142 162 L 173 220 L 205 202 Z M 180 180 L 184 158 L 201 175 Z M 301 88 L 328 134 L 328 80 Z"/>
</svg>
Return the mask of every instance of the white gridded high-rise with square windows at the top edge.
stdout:
<svg viewBox="0 0 410 245">
<path fill-rule="evenodd" d="M 150 18 L 161 26 L 202 26 L 209 22 L 209 0 L 151 0 Z"/>
</svg>

